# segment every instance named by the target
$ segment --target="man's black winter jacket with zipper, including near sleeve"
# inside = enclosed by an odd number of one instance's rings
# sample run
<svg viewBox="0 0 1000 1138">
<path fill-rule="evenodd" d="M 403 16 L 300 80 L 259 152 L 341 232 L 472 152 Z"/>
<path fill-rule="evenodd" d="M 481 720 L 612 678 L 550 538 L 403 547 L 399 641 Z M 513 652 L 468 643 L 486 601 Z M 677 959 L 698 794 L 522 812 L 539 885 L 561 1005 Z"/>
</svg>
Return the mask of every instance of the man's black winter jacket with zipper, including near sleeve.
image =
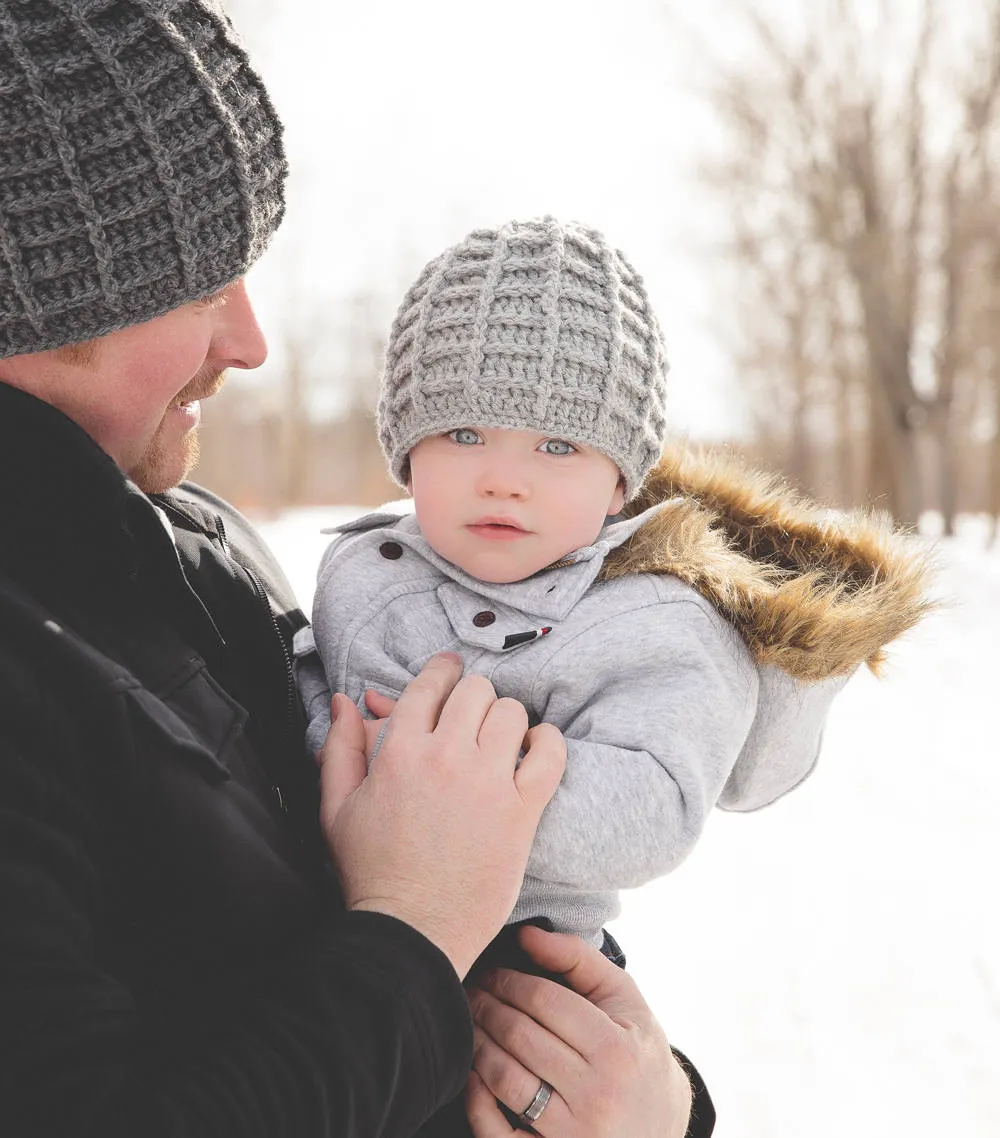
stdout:
<svg viewBox="0 0 1000 1138">
<path fill-rule="evenodd" d="M 173 531 L 0 384 L 0 1133 L 407 1136 L 471 1061 L 462 988 L 346 913 L 287 660 L 303 617 L 195 487 Z"/>
</svg>

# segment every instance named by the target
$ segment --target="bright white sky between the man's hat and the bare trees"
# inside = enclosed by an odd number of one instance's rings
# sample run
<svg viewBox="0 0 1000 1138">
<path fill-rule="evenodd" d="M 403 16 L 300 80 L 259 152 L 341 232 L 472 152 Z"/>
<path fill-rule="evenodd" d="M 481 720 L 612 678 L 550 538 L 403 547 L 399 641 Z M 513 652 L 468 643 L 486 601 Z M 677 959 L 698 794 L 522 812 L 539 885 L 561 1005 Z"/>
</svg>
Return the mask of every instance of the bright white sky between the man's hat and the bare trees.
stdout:
<svg viewBox="0 0 1000 1138">
<path fill-rule="evenodd" d="M 470 229 L 554 213 L 602 229 L 646 278 L 675 427 L 734 426 L 697 255 L 719 228 L 693 184 L 710 123 L 685 90 L 692 52 L 669 5 L 295 0 L 259 23 L 251 3 L 235 18 L 292 170 L 288 220 L 254 273 L 272 331 L 289 298 L 336 327 L 358 287 L 381 294 L 388 324 L 423 263 Z"/>
</svg>

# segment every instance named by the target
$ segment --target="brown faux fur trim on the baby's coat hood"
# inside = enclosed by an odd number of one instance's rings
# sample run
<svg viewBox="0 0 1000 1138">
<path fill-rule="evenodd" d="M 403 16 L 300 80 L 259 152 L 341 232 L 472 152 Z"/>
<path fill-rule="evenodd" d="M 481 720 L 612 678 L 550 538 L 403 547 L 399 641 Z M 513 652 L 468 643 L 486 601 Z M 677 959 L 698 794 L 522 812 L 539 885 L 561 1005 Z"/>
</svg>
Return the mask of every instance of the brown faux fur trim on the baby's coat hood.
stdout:
<svg viewBox="0 0 1000 1138">
<path fill-rule="evenodd" d="M 623 513 L 666 503 L 601 577 L 671 574 L 739 632 L 759 665 L 799 679 L 876 674 L 932 608 L 925 552 L 884 514 L 828 510 L 730 456 L 668 448 Z"/>
</svg>

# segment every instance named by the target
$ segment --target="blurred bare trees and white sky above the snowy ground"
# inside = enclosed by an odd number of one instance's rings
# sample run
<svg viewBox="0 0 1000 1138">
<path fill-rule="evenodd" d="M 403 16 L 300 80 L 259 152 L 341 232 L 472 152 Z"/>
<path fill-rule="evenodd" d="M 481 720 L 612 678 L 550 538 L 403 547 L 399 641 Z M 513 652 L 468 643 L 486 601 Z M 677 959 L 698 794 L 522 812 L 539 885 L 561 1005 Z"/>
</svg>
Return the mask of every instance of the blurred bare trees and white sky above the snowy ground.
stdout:
<svg viewBox="0 0 1000 1138">
<path fill-rule="evenodd" d="M 229 7 L 292 173 L 251 275 L 271 358 L 205 409 L 213 488 L 392 496 L 371 411 L 403 292 L 553 213 L 645 277 L 675 435 L 906 523 L 1000 514 L 998 0 Z"/>
</svg>

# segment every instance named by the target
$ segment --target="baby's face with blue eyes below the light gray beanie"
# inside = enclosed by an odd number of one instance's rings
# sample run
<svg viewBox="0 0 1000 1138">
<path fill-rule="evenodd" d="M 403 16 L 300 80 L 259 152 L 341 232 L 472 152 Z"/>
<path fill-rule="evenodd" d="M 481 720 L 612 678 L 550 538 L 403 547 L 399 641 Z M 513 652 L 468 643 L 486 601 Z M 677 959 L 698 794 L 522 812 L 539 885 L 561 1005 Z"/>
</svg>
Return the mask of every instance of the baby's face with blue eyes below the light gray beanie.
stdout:
<svg viewBox="0 0 1000 1138">
<path fill-rule="evenodd" d="M 622 506 L 618 467 L 540 431 L 460 427 L 410 452 L 410 492 L 432 549 L 480 580 L 523 580 L 589 545 Z"/>
</svg>

